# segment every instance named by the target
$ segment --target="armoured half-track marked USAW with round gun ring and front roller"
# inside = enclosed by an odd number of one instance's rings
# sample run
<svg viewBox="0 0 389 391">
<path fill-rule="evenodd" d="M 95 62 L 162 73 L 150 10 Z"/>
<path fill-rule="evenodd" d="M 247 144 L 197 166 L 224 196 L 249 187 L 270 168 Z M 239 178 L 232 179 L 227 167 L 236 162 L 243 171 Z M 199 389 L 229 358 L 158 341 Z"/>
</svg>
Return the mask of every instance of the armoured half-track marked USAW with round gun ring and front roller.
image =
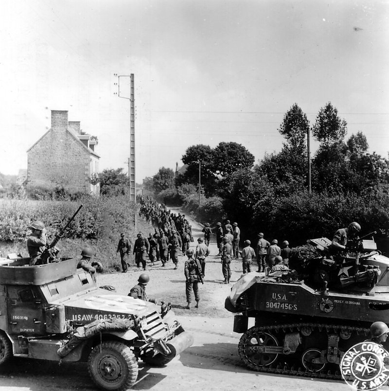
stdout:
<svg viewBox="0 0 389 391">
<path fill-rule="evenodd" d="M 170 306 L 97 287 L 76 259 L 0 258 L 0 365 L 12 356 L 88 362 L 103 390 L 127 390 L 138 359 L 165 365 L 193 343 Z"/>
</svg>

